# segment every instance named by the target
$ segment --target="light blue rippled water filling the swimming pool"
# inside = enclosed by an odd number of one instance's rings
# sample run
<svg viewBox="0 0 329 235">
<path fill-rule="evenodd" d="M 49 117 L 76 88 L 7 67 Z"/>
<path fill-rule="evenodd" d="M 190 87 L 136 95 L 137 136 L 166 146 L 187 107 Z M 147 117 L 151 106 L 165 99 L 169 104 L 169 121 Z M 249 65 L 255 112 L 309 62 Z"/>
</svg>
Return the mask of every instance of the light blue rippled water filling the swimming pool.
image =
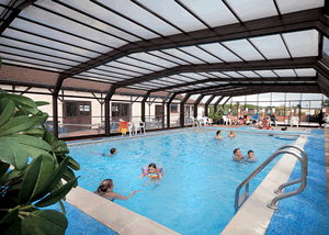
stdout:
<svg viewBox="0 0 329 235">
<path fill-rule="evenodd" d="M 114 191 L 128 195 L 143 191 L 127 201 L 115 200 L 140 215 L 181 234 L 219 234 L 234 216 L 237 186 L 280 146 L 294 143 L 264 134 L 238 133 L 236 138 L 214 138 L 216 130 L 194 130 L 141 138 L 124 138 L 98 144 L 70 146 L 70 155 L 81 165 L 79 186 L 94 191 L 106 178 L 114 180 Z M 116 147 L 114 157 L 101 153 Z M 254 152 L 257 163 L 236 163 L 232 150 L 242 155 Z M 250 193 L 272 169 L 274 160 L 250 183 Z M 141 184 L 141 167 L 150 163 L 166 170 L 160 186 Z M 152 190 L 155 189 L 155 190 Z"/>
</svg>

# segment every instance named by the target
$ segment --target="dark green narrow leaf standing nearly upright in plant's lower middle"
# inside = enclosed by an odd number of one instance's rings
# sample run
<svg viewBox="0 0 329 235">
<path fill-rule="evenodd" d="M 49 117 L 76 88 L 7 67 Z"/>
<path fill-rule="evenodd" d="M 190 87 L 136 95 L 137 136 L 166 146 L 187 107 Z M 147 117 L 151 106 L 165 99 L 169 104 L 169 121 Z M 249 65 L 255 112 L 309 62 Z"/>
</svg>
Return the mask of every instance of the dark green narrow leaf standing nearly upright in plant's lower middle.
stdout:
<svg viewBox="0 0 329 235">
<path fill-rule="evenodd" d="M 23 182 L 22 188 L 20 190 L 19 194 L 19 201 L 20 204 L 25 204 L 30 201 L 32 198 L 32 193 L 34 191 L 34 188 L 36 186 L 37 179 L 41 176 L 41 167 L 42 167 L 43 156 L 38 156 L 36 159 L 34 159 L 26 172 L 23 176 Z"/>
</svg>

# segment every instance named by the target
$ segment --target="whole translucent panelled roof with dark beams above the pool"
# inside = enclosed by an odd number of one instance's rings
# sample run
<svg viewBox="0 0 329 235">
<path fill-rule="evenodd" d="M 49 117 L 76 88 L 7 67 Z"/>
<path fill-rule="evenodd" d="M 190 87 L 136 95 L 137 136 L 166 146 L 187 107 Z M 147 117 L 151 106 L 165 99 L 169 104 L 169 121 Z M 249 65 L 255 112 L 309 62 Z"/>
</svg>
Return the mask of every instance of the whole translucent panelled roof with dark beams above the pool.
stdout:
<svg viewBox="0 0 329 235">
<path fill-rule="evenodd" d="M 329 93 L 324 0 L 38 0 L 12 18 L 21 2 L 0 0 L 0 56 L 4 69 L 53 75 L 38 83 L 60 75 L 63 86 L 102 91 Z"/>
</svg>

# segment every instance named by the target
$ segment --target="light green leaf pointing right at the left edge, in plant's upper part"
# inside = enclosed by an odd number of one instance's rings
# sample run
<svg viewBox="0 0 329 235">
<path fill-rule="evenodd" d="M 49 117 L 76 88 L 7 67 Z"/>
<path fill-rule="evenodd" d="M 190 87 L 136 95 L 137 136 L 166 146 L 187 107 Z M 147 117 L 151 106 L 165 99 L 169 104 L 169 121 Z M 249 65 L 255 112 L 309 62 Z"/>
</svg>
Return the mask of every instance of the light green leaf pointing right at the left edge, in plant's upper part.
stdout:
<svg viewBox="0 0 329 235">
<path fill-rule="evenodd" d="M 0 127 L 0 136 L 10 135 L 19 132 L 26 131 L 38 121 L 38 116 L 15 116 L 10 119 L 4 125 Z"/>
</svg>

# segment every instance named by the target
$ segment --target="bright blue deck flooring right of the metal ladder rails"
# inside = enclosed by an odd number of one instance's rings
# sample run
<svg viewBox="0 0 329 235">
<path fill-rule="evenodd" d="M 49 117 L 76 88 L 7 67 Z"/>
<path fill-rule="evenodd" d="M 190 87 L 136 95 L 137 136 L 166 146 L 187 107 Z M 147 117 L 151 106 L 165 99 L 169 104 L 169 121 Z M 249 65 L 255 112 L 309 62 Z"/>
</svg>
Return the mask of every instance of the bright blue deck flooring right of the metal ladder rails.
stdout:
<svg viewBox="0 0 329 235">
<path fill-rule="evenodd" d="M 324 131 L 311 130 L 304 149 L 308 155 L 306 189 L 300 194 L 279 202 L 279 210 L 272 216 L 266 235 L 329 234 Z M 296 164 L 290 181 L 299 177 L 300 166 Z M 287 187 L 285 192 L 298 187 Z"/>
</svg>

